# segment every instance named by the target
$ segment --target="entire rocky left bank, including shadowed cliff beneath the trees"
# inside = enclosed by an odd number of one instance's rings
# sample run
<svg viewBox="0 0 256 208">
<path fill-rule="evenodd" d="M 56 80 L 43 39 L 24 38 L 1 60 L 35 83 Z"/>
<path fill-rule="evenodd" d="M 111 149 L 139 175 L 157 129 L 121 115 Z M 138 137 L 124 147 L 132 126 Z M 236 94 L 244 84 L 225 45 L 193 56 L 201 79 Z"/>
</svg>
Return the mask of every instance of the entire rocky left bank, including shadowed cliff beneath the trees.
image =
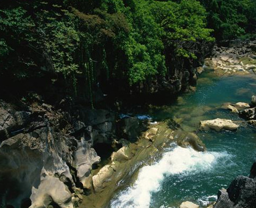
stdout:
<svg viewBox="0 0 256 208">
<path fill-rule="evenodd" d="M 163 135 L 168 141 L 174 137 L 166 124 L 151 127 L 148 119 L 119 116 L 125 106 L 122 102 L 130 102 L 133 95 L 143 100 L 147 95 L 167 93 L 174 97 L 186 91 L 196 84 L 196 67 L 202 65 L 211 49 L 212 45 L 206 43 L 191 44 L 189 50 L 196 52 L 198 59 L 175 57 L 171 61 L 175 66 L 170 67 L 164 80 L 156 77 L 149 86 L 135 86 L 138 89 L 132 90 L 117 90 L 113 88 L 116 83 L 98 83 L 92 98 L 84 96 L 83 88 L 79 98 L 69 97 L 63 90 L 65 81 L 60 77 L 58 84 L 52 83 L 55 75 L 50 71 L 44 71 L 42 77 L 28 78 L 26 84 L 1 77 L 1 206 L 71 208 L 79 206 L 83 199 L 87 207 L 105 204 L 115 190 L 115 182 L 162 148 L 166 143 Z M 37 83 L 45 83 L 45 89 Z M 188 139 L 191 135 L 182 135 L 186 142 L 179 140 L 180 145 L 204 150 L 196 136 Z M 112 174 L 116 179 L 109 185 L 106 181 Z M 94 198 L 95 193 L 108 191 L 104 200 Z M 89 202 L 91 198 L 97 202 Z"/>
</svg>

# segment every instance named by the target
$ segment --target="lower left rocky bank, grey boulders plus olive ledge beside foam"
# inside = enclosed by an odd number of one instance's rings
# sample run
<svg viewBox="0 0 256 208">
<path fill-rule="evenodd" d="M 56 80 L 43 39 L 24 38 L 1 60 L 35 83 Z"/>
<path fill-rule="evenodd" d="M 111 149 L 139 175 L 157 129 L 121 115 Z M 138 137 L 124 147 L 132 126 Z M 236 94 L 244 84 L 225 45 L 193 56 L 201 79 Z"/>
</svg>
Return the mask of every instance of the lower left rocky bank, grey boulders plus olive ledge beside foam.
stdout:
<svg viewBox="0 0 256 208">
<path fill-rule="evenodd" d="M 1 101 L 0 113 L 3 206 L 77 207 L 83 201 L 83 207 L 103 207 L 120 188 L 119 181 L 130 181 L 141 162 L 168 143 L 205 150 L 194 133 L 136 117 L 116 122 L 115 114 L 103 109 L 79 108 L 74 116 L 45 103 Z M 148 130 L 140 134 L 142 129 Z M 115 139 L 116 131 L 128 140 Z M 93 144 L 108 141 L 116 151 L 107 165 L 97 167 L 100 157 Z"/>
</svg>

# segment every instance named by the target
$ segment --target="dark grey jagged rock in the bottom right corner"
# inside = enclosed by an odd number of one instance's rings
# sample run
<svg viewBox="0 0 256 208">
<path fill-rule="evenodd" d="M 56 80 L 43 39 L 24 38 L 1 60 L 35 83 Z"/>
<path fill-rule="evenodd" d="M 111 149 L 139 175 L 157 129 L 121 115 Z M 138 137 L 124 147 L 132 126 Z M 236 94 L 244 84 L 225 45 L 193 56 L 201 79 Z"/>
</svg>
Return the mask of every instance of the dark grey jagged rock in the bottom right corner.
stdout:
<svg viewBox="0 0 256 208">
<path fill-rule="evenodd" d="M 256 163 L 250 177 L 238 176 L 228 189 L 221 189 L 214 208 L 254 208 L 256 205 Z"/>
</svg>

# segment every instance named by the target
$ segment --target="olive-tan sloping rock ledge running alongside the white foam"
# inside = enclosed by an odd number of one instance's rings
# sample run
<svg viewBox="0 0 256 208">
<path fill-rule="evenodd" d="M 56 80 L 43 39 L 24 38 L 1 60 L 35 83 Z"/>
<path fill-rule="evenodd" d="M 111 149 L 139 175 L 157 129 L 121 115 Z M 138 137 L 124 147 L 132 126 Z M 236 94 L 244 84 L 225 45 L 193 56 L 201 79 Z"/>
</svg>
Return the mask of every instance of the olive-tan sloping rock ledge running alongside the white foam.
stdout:
<svg viewBox="0 0 256 208">
<path fill-rule="evenodd" d="M 205 145 L 194 133 L 174 131 L 164 122 L 151 124 L 137 142 L 115 151 L 111 155 L 111 161 L 93 175 L 94 195 L 86 197 L 82 202 L 82 207 L 106 206 L 114 191 L 125 186 L 125 179 L 129 182 L 133 180 L 132 175 L 143 165 L 141 161 L 157 155 L 167 143 L 173 141 L 182 147 L 192 146 L 198 151 L 205 150 Z M 101 197 L 102 200 L 99 201 Z"/>
</svg>

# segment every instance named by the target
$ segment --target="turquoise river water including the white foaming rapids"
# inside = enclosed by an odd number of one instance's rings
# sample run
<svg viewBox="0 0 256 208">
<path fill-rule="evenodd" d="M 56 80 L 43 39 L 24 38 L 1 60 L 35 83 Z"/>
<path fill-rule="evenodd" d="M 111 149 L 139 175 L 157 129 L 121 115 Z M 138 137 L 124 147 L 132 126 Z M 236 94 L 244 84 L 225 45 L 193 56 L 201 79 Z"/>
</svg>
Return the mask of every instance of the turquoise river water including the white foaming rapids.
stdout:
<svg viewBox="0 0 256 208">
<path fill-rule="evenodd" d="M 237 114 L 221 109 L 225 102 L 250 102 L 256 92 L 255 75 L 214 77 L 205 73 L 196 92 L 183 94 L 173 105 L 151 106 L 145 113 L 156 121 L 174 118 L 185 131 L 195 131 L 206 153 L 172 146 L 153 165 L 142 167 L 137 181 L 117 193 L 111 207 L 179 207 L 191 201 L 204 207 L 215 201 L 237 175 L 248 175 L 256 156 L 256 130 L 245 122 L 236 132 L 198 131 L 199 121 Z M 169 98 L 166 98 L 166 102 Z"/>
</svg>

